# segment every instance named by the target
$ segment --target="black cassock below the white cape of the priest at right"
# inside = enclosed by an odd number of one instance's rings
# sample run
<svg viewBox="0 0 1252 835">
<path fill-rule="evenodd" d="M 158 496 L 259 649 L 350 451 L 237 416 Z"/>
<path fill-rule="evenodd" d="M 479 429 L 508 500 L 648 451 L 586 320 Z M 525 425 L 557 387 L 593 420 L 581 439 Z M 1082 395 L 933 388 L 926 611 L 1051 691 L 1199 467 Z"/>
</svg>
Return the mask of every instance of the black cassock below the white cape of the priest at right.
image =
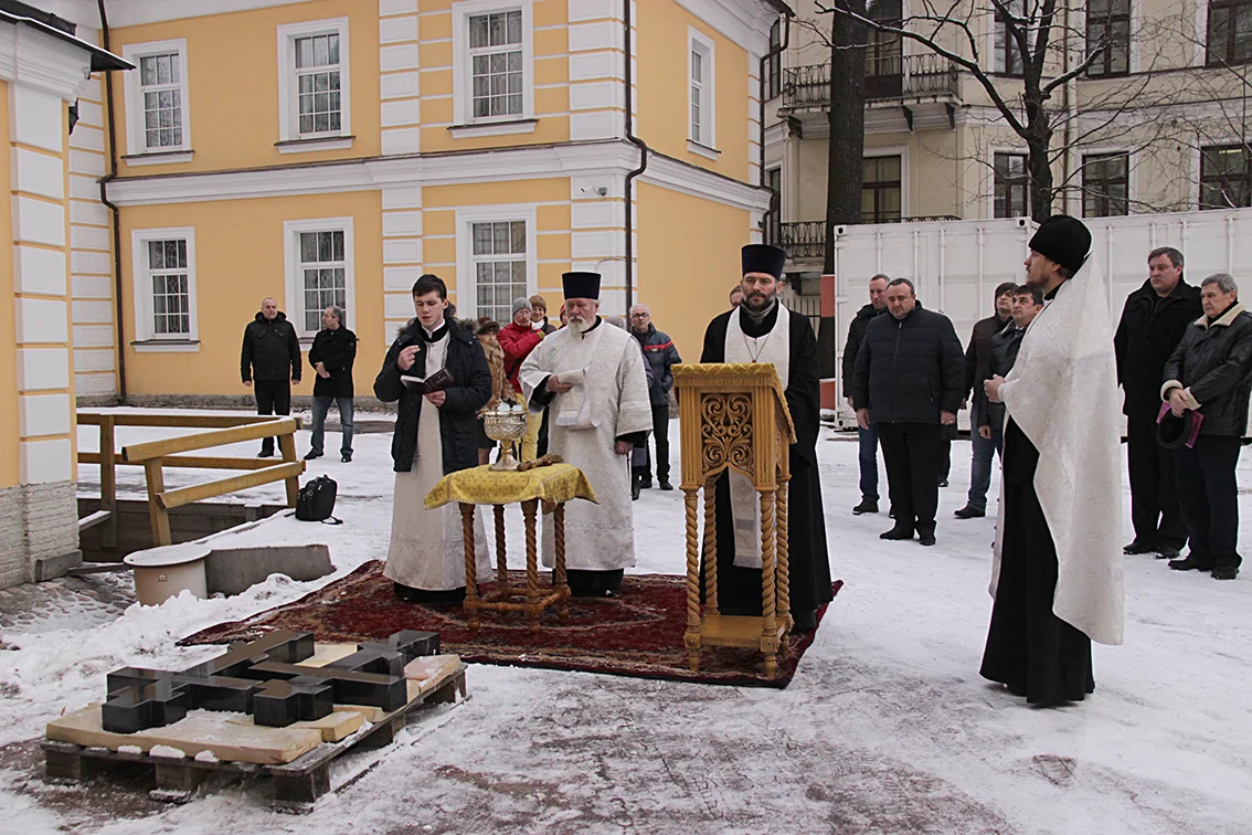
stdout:
<svg viewBox="0 0 1252 835">
<path fill-rule="evenodd" d="M 1039 451 L 1009 418 L 1004 427 L 1004 537 L 982 675 L 1028 702 L 1082 701 L 1096 690 L 1092 642 L 1057 617 L 1057 546 L 1034 491 Z"/>
</svg>

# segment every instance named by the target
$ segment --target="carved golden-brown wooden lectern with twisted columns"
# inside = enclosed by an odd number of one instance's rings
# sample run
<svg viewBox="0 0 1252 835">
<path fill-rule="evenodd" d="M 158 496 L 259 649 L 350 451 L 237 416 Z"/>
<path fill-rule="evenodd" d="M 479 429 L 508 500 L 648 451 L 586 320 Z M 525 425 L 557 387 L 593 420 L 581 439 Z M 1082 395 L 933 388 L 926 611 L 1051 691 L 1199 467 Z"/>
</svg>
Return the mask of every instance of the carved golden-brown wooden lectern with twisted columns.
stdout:
<svg viewBox="0 0 1252 835">
<path fill-rule="evenodd" d="M 705 363 L 674 367 L 682 433 L 682 493 L 687 522 L 687 661 L 700 669 L 704 646 L 759 647 L 765 675 L 777 670 L 777 651 L 791 631 L 788 565 L 788 447 L 795 427 L 777 372 L 769 363 Z M 736 469 L 760 496 L 761 616 L 717 610 L 717 477 Z M 696 493 L 704 488 L 705 606 L 700 610 L 700 538 Z M 734 560 L 734 555 L 727 555 Z"/>
</svg>

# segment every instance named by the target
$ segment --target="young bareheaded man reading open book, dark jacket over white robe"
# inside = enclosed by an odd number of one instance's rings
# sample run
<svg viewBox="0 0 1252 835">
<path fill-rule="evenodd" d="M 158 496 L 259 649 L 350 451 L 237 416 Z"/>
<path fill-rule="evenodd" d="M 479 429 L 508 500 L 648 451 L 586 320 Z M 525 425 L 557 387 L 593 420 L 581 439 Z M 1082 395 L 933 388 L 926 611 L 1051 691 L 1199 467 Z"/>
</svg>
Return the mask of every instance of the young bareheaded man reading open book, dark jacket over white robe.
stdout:
<svg viewBox="0 0 1252 835">
<path fill-rule="evenodd" d="M 491 399 L 491 368 L 475 336 L 447 313 L 442 279 L 417 279 L 413 308 L 417 317 L 401 328 L 374 379 L 379 401 L 399 402 L 392 434 L 396 489 L 384 573 L 401 600 L 459 602 L 466 591 L 461 513 L 454 503 L 426 510 L 424 501 L 444 474 L 478 466 L 477 412 Z M 439 371 L 447 371 L 444 384 L 424 391 L 424 381 Z M 491 560 L 481 531 L 475 533 L 475 545 L 478 573 L 487 576 Z"/>
</svg>

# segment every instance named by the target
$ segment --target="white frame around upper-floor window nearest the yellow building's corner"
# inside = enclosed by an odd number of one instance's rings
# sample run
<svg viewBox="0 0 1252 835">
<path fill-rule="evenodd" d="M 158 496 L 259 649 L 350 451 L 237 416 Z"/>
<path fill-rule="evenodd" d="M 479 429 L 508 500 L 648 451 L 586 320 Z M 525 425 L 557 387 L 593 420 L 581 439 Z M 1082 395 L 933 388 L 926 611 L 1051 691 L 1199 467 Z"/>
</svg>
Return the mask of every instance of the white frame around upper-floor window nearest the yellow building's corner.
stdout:
<svg viewBox="0 0 1252 835">
<path fill-rule="evenodd" d="M 500 135 L 535 131 L 535 21 L 533 0 L 462 0 L 452 4 L 452 125 L 453 135 Z M 470 19 L 500 11 L 522 13 L 522 111 L 502 116 L 473 115 L 473 71 Z M 471 126 L 481 131 L 467 131 Z"/>
</svg>

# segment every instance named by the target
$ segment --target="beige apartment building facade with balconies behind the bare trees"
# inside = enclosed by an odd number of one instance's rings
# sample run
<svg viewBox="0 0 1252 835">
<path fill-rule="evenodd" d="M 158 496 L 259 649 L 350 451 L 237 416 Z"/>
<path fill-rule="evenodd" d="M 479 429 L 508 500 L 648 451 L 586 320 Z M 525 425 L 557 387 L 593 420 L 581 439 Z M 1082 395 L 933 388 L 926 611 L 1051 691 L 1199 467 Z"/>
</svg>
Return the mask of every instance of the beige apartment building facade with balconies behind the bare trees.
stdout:
<svg viewBox="0 0 1252 835">
<path fill-rule="evenodd" d="M 791 270 L 813 275 L 825 235 L 830 15 L 814 0 L 795 8 L 788 49 L 764 79 L 777 195 L 766 234 Z M 869 4 L 885 24 L 936 29 L 923 14 L 916 0 Z M 1252 1 L 1090 0 L 1068 15 L 1054 24 L 1044 81 L 1096 60 L 1049 101 L 1054 209 L 1094 218 L 1252 204 Z M 950 19 L 964 29 L 938 28 L 939 45 L 1019 106 L 1022 54 L 992 4 L 965 0 Z M 781 43 L 781 25 L 771 38 Z M 1025 143 L 984 85 L 906 38 L 871 31 L 868 43 L 861 220 L 1028 217 Z"/>
</svg>

